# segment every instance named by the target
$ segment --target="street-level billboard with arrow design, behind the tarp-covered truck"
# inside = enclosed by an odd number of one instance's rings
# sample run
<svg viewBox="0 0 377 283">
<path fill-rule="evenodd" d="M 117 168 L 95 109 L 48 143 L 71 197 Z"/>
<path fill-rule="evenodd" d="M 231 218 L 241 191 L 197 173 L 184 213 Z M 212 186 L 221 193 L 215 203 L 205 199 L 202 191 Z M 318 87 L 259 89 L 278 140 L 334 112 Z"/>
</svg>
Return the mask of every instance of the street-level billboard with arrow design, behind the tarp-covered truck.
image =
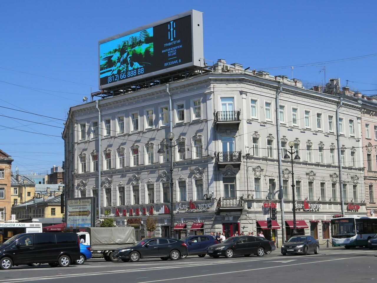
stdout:
<svg viewBox="0 0 377 283">
<path fill-rule="evenodd" d="M 95 226 L 95 198 L 67 198 L 67 228 Z"/>
</svg>

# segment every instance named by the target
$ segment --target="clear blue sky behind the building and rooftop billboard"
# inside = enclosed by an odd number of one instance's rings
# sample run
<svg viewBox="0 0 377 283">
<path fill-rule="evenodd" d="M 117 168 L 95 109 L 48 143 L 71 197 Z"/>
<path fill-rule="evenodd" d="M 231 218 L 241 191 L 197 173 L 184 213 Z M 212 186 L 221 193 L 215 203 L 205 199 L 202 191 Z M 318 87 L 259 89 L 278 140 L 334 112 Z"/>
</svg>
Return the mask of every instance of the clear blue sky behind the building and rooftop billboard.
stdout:
<svg viewBox="0 0 377 283">
<path fill-rule="evenodd" d="M 260 70 L 377 53 L 374 1 L 2 1 L 0 106 L 64 120 L 98 90 L 98 40 L 190 9 L 204 13 L 204 55 L 212 61 Z M 326 64 L 326 79 L 377 89 L 376 65 L 377 56 Z M 321 83 L 320 69 L 294 68 L 293 77 Z M 267 71 L 291 77 L 290 68 Z M 63 121 L 5 108 L 0 115 L 7 116 L 0 149 L 14 158 L 13 170 L 61 165 Z"/>
</svg>

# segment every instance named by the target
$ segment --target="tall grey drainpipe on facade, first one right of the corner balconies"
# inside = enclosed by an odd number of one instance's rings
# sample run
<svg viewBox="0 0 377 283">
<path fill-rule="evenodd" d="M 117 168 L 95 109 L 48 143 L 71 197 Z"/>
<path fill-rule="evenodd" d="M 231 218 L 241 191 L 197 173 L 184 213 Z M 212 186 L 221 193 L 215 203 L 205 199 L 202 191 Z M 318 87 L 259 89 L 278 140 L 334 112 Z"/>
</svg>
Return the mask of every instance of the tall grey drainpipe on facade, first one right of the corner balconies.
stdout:
<svg viewBox="0 0 377 283">
<path fill-rule="evenodd" d="M 282 243 L 285 242 L 285 217 L 284 217 L 284 192 L 283 192 L 283 170 L 282 170 L 282 146 L 280 141 L 280 117 L 279 117 L 279 94 L 282 92 L 282 85 L 279 82 L 279 90 L 276 92 L 275 96 L 275 105 L 276 105 L 276 140 L 277 140 L 277 161 L 278 161 L 278 170 L 279 170 L 279 194 L 280 199 L 280 211 L 282 219 Z M 292 180 L 293 182 L 293 180 Z M 293 204 L 294 205 L 294 204 Z M 277 245 L 277 243 L 276 243 Z"/>
</svg>

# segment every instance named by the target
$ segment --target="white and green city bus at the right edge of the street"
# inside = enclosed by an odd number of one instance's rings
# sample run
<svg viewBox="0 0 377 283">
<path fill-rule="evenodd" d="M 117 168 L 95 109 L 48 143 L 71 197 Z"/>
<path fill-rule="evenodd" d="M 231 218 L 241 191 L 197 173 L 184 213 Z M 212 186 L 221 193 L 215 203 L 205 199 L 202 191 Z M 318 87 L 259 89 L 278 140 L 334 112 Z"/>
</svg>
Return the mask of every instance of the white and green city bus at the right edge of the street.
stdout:
<svg viewBox="0 0 377 283">
<path fill-rule="evenodd" d="M 346 249 L 367 246 L 377 233 L 377 217 L 339 217 L 331 219 L 333 247 Z"/>
</svg>

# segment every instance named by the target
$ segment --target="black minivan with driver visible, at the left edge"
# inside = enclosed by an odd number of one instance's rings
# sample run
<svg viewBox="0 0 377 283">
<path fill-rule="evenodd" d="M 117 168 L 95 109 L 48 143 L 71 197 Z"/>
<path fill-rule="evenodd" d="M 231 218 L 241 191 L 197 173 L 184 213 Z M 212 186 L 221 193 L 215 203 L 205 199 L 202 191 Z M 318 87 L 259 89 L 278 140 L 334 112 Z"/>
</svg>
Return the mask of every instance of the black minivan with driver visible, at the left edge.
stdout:
<svg viewBox="0 0 377 283">
<path fill-rule="evenodd" d="M 67 267 L 78 259 L 80 241 L 76 233 L 18 234 L 0 246 L 0 269 L 33 263 Z"/>
</svg>

